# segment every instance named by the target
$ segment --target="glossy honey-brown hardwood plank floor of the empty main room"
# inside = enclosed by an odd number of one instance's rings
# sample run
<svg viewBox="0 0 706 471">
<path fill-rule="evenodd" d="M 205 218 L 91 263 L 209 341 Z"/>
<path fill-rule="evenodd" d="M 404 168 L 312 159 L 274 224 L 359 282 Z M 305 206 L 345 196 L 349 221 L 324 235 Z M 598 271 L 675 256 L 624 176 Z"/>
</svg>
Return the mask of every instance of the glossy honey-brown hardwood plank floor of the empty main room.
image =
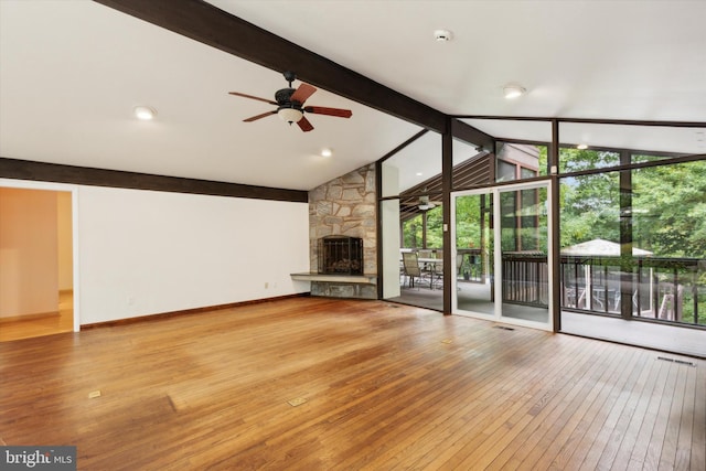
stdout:
<svg viewBox="0 0 706 471">
<path fill-rule="evenodd" d="M 292 298 L 2 343 L 0 442 L 85 470 L 705 469 L 705 361 L 496 327 Z"/>
</svg>

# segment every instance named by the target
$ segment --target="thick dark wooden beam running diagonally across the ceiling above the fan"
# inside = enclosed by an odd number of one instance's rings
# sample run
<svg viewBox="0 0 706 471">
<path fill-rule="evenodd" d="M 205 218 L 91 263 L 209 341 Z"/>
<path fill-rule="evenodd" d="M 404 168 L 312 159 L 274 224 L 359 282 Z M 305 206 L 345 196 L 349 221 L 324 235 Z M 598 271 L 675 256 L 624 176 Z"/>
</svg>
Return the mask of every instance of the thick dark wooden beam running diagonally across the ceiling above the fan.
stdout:
<svg viewBox="0 0 706 471">
<path fill-rule="evenodd" d="M 203 44 L 443 133 L 446 115 L 203 0 L 94 0 Z"/>
</svg>

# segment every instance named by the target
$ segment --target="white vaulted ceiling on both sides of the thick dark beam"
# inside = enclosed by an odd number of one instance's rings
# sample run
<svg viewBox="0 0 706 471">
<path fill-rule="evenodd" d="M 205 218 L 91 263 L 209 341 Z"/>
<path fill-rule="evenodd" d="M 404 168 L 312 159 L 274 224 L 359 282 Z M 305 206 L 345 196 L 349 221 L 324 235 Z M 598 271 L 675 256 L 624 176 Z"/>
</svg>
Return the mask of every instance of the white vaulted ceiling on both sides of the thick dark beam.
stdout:
<svg viewBox="0 0 706 471">
<path fill-rule="evenodd" d="M 704 0 L 211 3 L 446 114 L 706 121 Z M 436 42 L 438 29 L 452 41 Z M 505 100 L 510 82 L 528 93 Z M 0 157 L 310 190 L 421 129 L 321 89 L 308 105 L 352 118 L 310 116 L 307 133 L 276 117 L 247 124 L 270 106 L 227 95 L 284 86 L 278 72 L 98 3 L 0 0 Z M 157 119 L 137 121 L 137 105 Z M 546 122 L 467 122 L 550 136 Z M 563 125 L 560 136 L 706 152 L 704 127 L 613 128 Z M 418 148 L 406 162 L 440 154 Z"/>
</svg>

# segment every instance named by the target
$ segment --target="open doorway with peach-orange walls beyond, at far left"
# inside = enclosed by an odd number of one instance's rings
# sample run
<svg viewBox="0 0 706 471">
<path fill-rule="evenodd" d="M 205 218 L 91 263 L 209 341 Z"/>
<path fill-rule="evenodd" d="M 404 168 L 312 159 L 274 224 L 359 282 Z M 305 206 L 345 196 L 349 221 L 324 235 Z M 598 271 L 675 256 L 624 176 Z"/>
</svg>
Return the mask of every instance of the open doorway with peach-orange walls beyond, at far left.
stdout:
<svg viewBox="0 0 706 471">
<path fill-rule="evenodd" d="M 0 186 L 0 341 L 71 332 L 74 197 Z"/>
</svg>

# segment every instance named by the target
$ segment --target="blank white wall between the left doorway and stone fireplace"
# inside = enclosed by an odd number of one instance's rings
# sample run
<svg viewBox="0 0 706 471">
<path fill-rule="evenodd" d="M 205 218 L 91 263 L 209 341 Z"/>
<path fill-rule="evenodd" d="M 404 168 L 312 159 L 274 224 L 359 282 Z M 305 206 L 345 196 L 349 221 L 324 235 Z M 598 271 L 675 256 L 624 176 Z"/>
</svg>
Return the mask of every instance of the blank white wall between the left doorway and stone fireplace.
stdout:
<svg viewBox="0 0 706 471">
<path fill-rule="evenodd" d="M 82 186 L 81 323 L 309 291 L 307 203 Z M 267 283 L 267 287 L 266 287 Z"/>
</svg>

